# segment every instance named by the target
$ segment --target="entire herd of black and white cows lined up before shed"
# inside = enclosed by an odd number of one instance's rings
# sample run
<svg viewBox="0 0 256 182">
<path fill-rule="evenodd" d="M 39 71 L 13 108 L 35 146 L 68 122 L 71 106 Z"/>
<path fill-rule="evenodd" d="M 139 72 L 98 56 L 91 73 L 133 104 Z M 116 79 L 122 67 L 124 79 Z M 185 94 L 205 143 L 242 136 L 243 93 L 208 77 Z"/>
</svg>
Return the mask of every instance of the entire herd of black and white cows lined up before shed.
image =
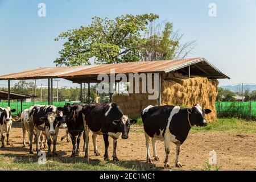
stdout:
<svg viewBox="0 0 256 182">
<path fill-rule="evenodd" d="M 9 145 L 9 135 L 12 125 L 11 113 L 15 109 L 0 107 L 0 131 L 1 147 Z M 168 155 L 170 143 L 176 144 L 175 166 L 182 167 L 179 162 L 180 146 L 187 138 L 192 126 L 206 126 L 204 114 L 211 110 L 203 109 L 199 104 L 192 108 L 181 108 L 179 106 L 147 106 L 141 112 L 144 126 L 144 135 L 147 147 L 147 162 L 150 158 L 150 138 L 154 151 L 154 160 L 159 160 L 156 153 L 156 140 L 162 140 L 166 151 L 164 167 L 170 167 Z M 122 139 L 129 138 L 130 125 L 137 122 L 122 113 L 120 107 L 113 102 L 104 104 L 65 104 L 63 107 L 53 105 L 35 105 L 22 112 L 19 121 L 22 123 L 23 147 L 26 147 L 26 132 L 29 135 L 30 154 L 33 154 L 32 140 L 35 139 L 36 151 L 48 147 L 48 155 L 56 156 L 56 142 L 59 129 L 65 128 L 72 140 L 72 155 L 79 155 L 80 139 L 83 135 L 85 157 L 88 158 L 89 132 L 92 131 L 94 153 L 100 155 L 97 150 L 97 135 L 103 135 L 105 143 L 104 160 L 109 160 L 108 147 L 109 137 L 113 138 L 113 160 L 117 161 L 117 140 L 121 135 Z M 88 137 L 86 139 L 86 137 Z M 40 139 L 40 145 L 39 145 Z M 44 140 L 44 142 L 43 142 Z M 51 144 L 53 150 L 51 151 Z"/>
</svg>

